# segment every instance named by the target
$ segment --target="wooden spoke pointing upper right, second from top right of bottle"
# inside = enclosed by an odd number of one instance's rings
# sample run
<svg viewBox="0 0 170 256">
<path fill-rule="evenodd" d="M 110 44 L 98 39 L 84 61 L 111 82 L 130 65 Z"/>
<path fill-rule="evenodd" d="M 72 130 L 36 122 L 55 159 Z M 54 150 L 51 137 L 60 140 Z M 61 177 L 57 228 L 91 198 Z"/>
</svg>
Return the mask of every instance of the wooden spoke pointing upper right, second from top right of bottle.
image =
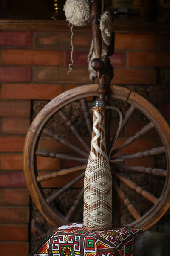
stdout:
<svg viewBox="0 0 170 256">
<path fill-rule="evenodd" d="M 118 148 L 112 151 L 111 156 L 114 154 L 118 153 L 120 150 L 123 148 L 127 147 L 128 145 L 132 144 L 135 140 L 139 139 L 142 137 L 142 135 L 146 134 L 148 131 L 154 128 L 154 125 L 152 122 L 149 124 L 145 125 L 139 132 L 136 132 L 136 134 L 130 138 L 128 138 L 122 145 L 120 145 Z"/>
</svg>

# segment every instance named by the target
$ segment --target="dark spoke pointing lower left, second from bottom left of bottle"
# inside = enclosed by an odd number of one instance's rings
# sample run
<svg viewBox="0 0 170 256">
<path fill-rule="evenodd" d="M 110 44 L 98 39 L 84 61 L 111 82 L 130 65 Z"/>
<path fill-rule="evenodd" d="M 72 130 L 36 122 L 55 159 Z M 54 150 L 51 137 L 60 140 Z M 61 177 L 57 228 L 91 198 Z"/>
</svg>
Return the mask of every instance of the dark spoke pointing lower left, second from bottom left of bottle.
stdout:
<svg viewBox="0 0 170 256">
<path fill-rule="evenodd" d="M 72 186 L 74 186 L 75 183 L 77 183 L 79 180 L 81 180 L 82 178 L 85 177 L 85 172 L 83 172 L 82 174 L 80 174 L 77 178 L 75 178 L 74 180 L 72 180 L 70 183 L 68 183 L 67 185 L 65 185 L 62 189 L 59 189 L 56 193 L 54 193 L 53 195 L 50 195 L 49 198 L 47 198 L 47 203 L 50 204 L 51 202 L 53 202 L 54 200 L 56 200 L 59 195 L 62 195 L 62 193 L 64 193 L 65 191 L 67 191 L 68 189 L 70 189 Z"/>
</svg>

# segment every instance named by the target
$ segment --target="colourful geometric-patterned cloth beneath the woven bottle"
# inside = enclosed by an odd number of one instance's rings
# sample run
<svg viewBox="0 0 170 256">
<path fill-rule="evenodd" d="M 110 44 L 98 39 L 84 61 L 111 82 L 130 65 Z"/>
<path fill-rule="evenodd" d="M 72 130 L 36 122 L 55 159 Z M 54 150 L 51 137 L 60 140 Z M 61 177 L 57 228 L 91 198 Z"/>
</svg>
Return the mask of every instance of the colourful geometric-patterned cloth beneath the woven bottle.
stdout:
<svg viewBox="0 0 170 256">
<path fill-rule="evenodd" d="M 114 226 L 89 231 L 82 223 L 59 227 L 30 256 L 132 256 L 133 240 L 142 230 Z"/>
</svg>

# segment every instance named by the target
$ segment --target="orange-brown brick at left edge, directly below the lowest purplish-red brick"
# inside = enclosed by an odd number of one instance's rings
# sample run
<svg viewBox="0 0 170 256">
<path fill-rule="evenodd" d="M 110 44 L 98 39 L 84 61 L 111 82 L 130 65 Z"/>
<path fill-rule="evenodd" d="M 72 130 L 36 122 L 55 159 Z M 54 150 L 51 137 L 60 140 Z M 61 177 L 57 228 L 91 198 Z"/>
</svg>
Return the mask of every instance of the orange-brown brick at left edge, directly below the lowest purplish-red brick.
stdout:
<svg viewBox="0 0 170 256">
<path fill-rule="evenodd" d="M 29 205 L 27 189 L 0 189 L 0 205 Z"/>
</svg>

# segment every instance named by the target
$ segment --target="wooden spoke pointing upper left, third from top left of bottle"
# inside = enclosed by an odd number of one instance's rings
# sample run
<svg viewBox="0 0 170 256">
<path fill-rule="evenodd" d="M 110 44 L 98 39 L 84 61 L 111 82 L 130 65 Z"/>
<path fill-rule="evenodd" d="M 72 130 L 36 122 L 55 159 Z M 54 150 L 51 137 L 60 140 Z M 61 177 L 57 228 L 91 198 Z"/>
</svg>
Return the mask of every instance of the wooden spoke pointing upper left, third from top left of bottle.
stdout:
<svg viewBox="0 0 170 256">
<path fill-rule="evenodd" d="M 43 134 L 47 135 L 48 137 L 51 137 L 52 139 L 62 143 L 63 145 L 72 148 L 74 151 L 78 152 L 79 154 L 81 154 L 83 157 L 88 157 L 88 154 L 85 151 L 82 151 L 80 148 L 77 148 L 76 146 L 74 146 L 73 144 L 71 144 L 70 142 L 68 142 L 67 140 L 63 139 L 62 137 L 60 137 L 58 134 L 54 134 L 54 132 L 52 132 L 51 130 L 45 128 L 43 130 Z"/>
</svg>

